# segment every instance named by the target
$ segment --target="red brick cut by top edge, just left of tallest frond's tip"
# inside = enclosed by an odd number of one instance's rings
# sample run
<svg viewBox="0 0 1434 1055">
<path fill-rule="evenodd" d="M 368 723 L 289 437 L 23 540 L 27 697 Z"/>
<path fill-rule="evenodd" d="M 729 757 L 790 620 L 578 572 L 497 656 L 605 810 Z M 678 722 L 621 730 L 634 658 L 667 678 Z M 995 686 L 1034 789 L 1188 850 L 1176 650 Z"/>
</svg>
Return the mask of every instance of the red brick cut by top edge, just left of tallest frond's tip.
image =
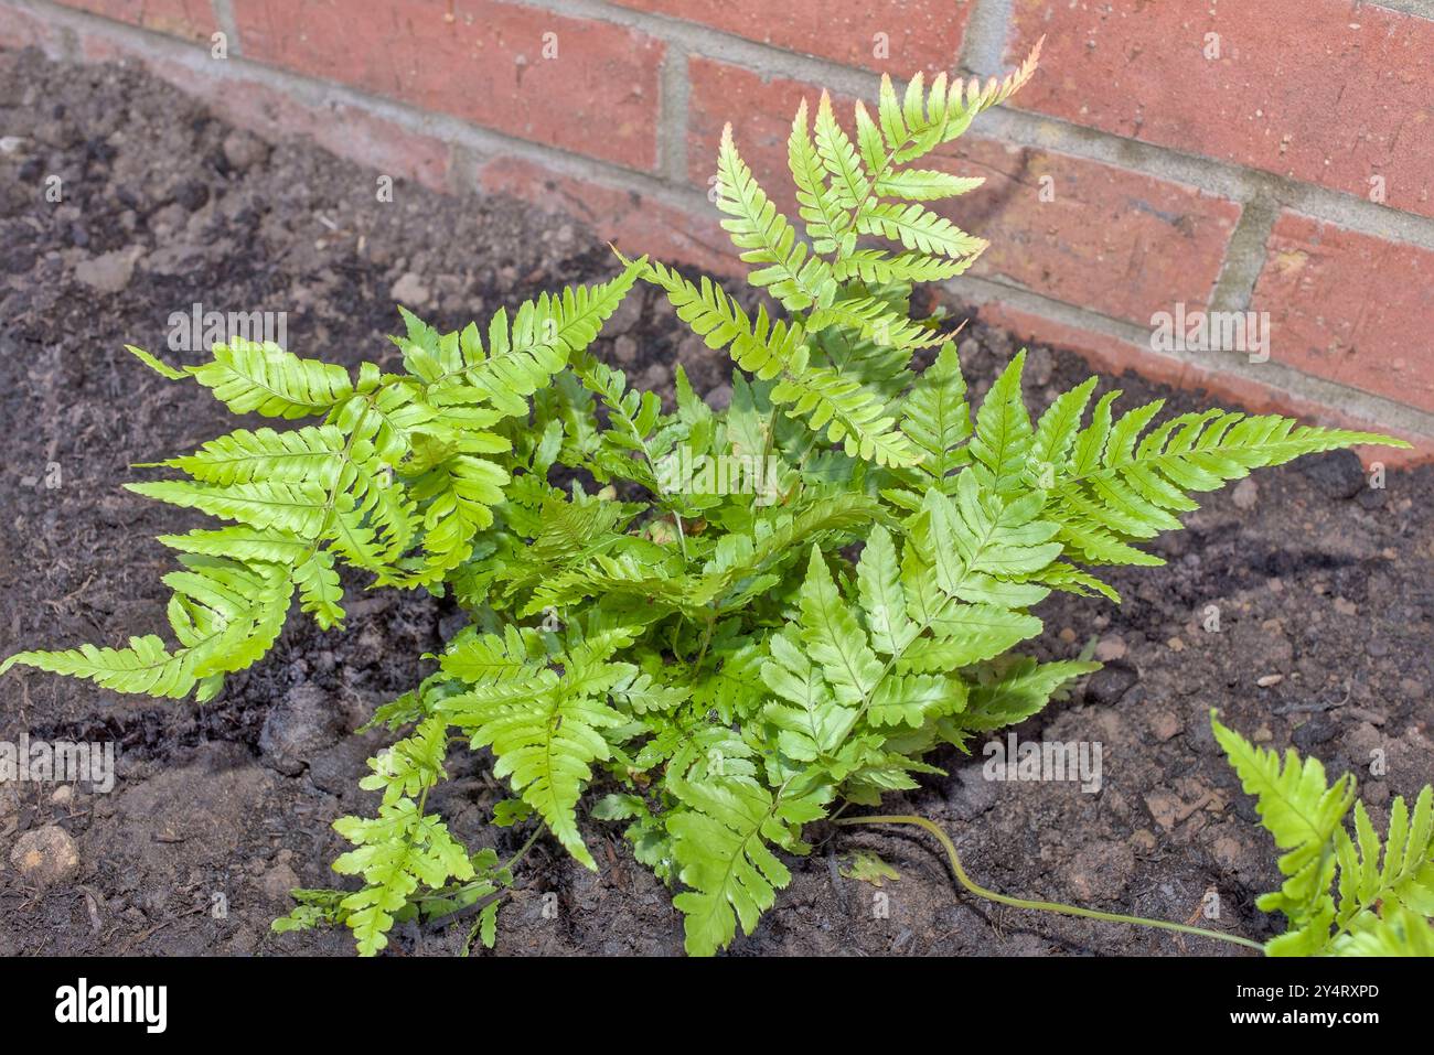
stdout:
<svg viewBox="0 0 1434 1055">
<path fill-rule="evenodd" d="M 726 30 L 789 52 L 835 59 L 892 76 L 956 65 L 971 4 L 956 0 L 615 0 Z M 878 36 L 885 34 L 885 37 Z"/>
</svg>

